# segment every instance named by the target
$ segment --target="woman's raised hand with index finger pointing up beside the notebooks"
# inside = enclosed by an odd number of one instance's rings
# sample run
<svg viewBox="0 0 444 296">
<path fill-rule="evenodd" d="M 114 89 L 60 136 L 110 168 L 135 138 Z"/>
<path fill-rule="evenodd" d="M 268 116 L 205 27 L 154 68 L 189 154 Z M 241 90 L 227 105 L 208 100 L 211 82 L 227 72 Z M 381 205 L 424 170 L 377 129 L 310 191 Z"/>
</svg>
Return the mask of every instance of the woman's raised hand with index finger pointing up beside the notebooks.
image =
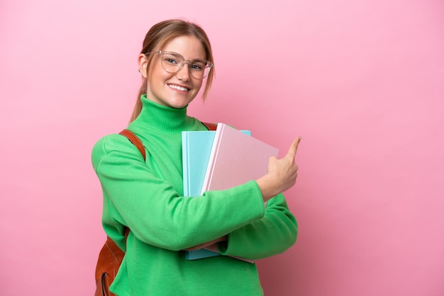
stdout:
<svg viewBox="0 0 444 296">
<path fill-rule="evenodd" d="M 268 173 L 256 180 L 264 201 L 292 188 L 296 183 L 299 167 L 294 162 L 301 137 L 296 138 L 282 159 L 276 156 L 268 161 Z"/>
</svg>

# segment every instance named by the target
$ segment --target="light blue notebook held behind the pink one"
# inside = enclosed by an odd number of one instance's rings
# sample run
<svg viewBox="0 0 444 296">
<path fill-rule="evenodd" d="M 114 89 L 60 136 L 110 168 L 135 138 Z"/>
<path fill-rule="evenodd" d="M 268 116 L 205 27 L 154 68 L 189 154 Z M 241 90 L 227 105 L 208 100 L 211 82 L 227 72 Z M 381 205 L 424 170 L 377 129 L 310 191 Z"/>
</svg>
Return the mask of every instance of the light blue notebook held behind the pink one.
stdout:
<svg viewBox="0 0 444 296">
<path fill-rule="evenodd" d="M 249 130 L 243 130 L 242 132 L 246 135 L 251 135 Z M 215 135 L 216 131 L 209 130 L 182 132 L 184 196 L 201 195 Z M 187 251 L 185 256 L 188 260 L 195 260 L 219 255 L 221 254 L 200 249 Z"/>
</svg>

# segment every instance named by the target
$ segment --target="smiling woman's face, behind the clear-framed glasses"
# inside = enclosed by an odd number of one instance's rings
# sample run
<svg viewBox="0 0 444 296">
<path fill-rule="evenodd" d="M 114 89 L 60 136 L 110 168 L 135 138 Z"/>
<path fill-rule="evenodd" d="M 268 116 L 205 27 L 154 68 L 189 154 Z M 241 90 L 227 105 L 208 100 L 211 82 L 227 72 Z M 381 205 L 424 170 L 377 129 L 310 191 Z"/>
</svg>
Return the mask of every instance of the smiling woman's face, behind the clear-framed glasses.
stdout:
<svg viewBox="0 0 444 296">
<path fill-rule="evenodd" d="M 206 59 L 204 46 L 194 36 L 174 38 L 160 50 L 177 52 L 187 60 Z M 189 74 L 188 64 L 184 64 L 177 73 L 169 73 L 163 69 L 160 59 L 160 55 L 154 57 L 147 75 L 146 56 L 139 56 L 140 71 L 148 79 L 147 98 L 163 106 L 186 107 L 199 93 L 202 79 L 195 79 Z"/>
</svg>

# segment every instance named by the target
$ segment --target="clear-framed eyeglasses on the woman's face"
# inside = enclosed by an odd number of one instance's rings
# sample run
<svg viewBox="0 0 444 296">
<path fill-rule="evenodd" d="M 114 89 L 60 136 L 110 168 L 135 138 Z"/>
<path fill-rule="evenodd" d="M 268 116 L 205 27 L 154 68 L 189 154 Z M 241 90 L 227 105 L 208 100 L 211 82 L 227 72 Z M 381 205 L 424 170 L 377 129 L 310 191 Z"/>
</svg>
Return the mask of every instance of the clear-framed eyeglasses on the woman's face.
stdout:
<svg viewBox="0 0 444 296">
<path fill-rule="evenodd" d="M 151 52 L 147 52 L 149 55 Z M 192 59 L 191 61 L 184 59 L 182 55 L 177 52 L 164 52 L 159 50 L 154 52 L 156 55 L 160 55 L 162 61 L 162 68 L 169 73 L 177 73 L 182 69 L 184 64 L 188 64 L 188 71 L 195 79 L 204 79 L 210 72 L 213 63 L 206 61 L 205 59 Z"/>
</svg>

